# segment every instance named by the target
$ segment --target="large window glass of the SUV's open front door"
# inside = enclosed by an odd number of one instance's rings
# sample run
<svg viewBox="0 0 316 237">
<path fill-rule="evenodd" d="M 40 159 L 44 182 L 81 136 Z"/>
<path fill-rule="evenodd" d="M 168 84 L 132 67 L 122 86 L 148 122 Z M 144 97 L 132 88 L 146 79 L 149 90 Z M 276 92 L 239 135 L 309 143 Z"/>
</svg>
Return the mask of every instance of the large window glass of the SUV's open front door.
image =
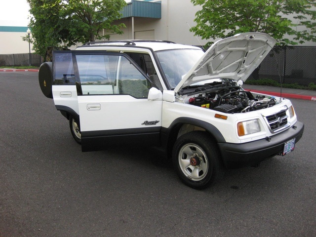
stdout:
<svg viewBox="0 0 316 237">
<path fill-rule="evenodd" d="M 83 95 L 128 94 L 147 98 L 150 82 L 121 55 L 76 55 Z"/>
</svg>

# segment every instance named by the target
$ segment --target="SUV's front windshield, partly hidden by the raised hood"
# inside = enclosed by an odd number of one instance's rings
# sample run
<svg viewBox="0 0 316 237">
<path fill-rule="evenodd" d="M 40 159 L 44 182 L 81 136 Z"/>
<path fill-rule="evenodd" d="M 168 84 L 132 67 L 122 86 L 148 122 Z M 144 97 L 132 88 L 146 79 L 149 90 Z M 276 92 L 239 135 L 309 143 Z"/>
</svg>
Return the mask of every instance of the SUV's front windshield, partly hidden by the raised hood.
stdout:
<svg viewBox="0 0 316 237">
<path fill-rule="evenodd" d="M 175 49 L 157 52 L 158 60 L 171 88 L 186 75 L 204 54 L 201 49 Z"/>
</svg>

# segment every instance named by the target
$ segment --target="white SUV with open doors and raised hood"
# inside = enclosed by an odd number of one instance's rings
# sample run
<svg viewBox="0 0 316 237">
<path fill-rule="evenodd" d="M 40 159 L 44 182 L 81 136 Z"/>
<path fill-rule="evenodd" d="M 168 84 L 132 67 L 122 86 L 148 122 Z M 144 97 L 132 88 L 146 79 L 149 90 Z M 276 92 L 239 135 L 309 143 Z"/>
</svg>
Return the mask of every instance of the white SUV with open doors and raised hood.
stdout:
<svg viewBox="0 0 316 237">
<path fill-rule="evenodd" d="M 168 41 L 89 42 L 40 67 L 46 97 L 82 151 L 161 147 L 181 180 L 203 189 L 224 168 L 286 155 L 301 138 L 291 102 L 241 88 L 276 41 L 245 33 L 206 52 Z"/>
</svg>

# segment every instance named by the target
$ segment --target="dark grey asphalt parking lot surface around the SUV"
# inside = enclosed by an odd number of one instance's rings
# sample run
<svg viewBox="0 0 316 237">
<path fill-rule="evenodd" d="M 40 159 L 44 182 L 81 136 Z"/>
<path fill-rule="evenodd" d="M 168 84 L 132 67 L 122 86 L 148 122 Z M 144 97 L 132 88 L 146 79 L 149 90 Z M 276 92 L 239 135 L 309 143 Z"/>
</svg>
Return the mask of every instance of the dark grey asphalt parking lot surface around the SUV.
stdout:
<svg viewBox="0 0 316 237">
<path fill-rule="evenodd" d="M 294 152 L 197 191 L 150 148 L 82 153 L 38 73 L 0 72 L 0 237 L 315 236 L 316 103 L 292 103 Z"/>
</svg>

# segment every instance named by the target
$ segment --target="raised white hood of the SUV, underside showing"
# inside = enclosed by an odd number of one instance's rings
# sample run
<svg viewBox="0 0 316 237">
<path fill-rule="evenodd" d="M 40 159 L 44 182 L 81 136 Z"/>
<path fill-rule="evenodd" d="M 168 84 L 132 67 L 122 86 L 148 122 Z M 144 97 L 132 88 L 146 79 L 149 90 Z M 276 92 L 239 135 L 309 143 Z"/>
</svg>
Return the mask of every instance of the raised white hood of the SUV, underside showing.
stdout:
<svg viewBox="0 0 316 237">
<path fill-rule="evenodd" d="M 207 80 L 228 78 L 245 81 L 268 55 L 276 40 L 263 33 L 243 33 L 218 40 L 182 77 L 174 91 Z"/>
</svg>

